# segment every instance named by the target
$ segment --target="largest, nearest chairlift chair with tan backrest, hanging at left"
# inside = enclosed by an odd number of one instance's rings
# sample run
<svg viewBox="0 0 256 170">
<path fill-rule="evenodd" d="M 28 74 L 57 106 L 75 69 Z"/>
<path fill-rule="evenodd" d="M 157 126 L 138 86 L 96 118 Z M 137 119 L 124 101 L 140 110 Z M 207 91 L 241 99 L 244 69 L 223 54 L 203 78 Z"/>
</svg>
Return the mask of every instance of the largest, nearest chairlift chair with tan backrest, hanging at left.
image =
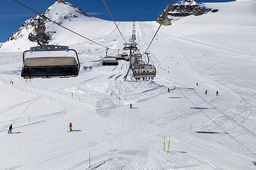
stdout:
<svg viewBox="0 0 256 170">
<path fill-rule="evenodd" d="M 25 58 L 27 52 L 73 51 L 75 57 L 32 57 Z M 80 63 L 76 50 L 68 46 L 41 45 L 31 47 L 23 52 L 21 76 L 27 78 L 68 78 L 79 74 Z"/>
</svg>

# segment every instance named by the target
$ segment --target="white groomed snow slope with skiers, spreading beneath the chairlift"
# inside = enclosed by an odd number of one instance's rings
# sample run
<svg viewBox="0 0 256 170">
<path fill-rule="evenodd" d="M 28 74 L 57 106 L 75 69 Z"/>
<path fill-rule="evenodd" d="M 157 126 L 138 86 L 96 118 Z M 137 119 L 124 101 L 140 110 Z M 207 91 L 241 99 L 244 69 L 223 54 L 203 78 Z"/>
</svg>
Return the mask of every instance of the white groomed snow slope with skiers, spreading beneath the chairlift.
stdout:
<svg viewBox="0 0 256 170">
<path fill-rule="evenodd" d="M 256 3 L 206 5 L 219 12 L 160 28 L 149 49 L 157 73 L 148 82 L 124 82 L 129 63 L 101 66 L 104 48 L 61 28 L 49 44 L 77 50 L 76 78 L 22 79 L 22 51 L 30 46 L 16 41 L 14 52 L 5 44 L 0 169 L 255 169 Z M 113 22 L 85 23 L 69 27 L 123 48 Z M 117 24 L 129 41 L 133 23 Z M 139 52 L 158 27 L 136 22 Z M 7 134 L 10 124 L 13 134 Z"/>
</svg>

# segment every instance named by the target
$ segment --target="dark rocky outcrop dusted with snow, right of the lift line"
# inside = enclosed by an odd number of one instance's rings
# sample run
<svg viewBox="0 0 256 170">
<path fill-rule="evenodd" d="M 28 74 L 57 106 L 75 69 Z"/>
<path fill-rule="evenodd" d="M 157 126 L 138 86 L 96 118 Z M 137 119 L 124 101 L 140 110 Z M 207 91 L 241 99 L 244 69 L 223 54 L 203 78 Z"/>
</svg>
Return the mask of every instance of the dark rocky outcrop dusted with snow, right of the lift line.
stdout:
<svg viewBox="0 0 256 170">
<path fill-rule="evenodd" d="M 210 11 L 217 12 L 218 10 L 207 8 L 193 0 L 183 0 L 181 2 L 175 3 L 174 5 L 172 5 L 172 7 L 171 5 L 167 5 L 165 10 L 163 10 L 163 12 L 158 15 L 156 22 L 161 23 L 167 11 L 169 11 L 167 16 L 176 17 L 176 16 L 189 16 L 189 15 L 198 16 L 198 15 L 207 14 Z M 167 17 L 167 18 L 169 19 L 164 20 L 163 22 L 164 25 L 168 25 L 169 22 L 171 24 L 170 20 L 172 19 L 170 19 L 170 17 Z"/>
</svg>

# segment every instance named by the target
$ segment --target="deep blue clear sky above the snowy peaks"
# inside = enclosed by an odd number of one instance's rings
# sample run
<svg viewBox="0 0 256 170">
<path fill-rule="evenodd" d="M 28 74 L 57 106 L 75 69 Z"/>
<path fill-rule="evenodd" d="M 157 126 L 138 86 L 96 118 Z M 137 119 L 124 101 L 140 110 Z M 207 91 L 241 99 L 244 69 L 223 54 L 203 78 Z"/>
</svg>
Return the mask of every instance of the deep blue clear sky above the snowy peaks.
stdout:
<svg viewBox="0 0 256 170">
<path fill-rule="evenodd" d="M 16 0 L 43 14 L 55 0 Z M 90 16 L 105 20 L 112 20 L 102 0 L 66 0 L 85 11 Z M 164 8 L 173 0 L 105 0 L 113 18 L 117 21 L 131 21 L 135 17 L 139 21 L 156 20 Z M 197 0 L 197 2 L 229 2 L 232 0 Z M 179 2 L 179 1 L 176 1 Z M 176 3 L 175 2 L 175 3 Z M 32 11 L 24 8 L 12 0 L 4 0 L 0 3 L 0 42 L 5 42 L 13 32 L 29 18 L 35 16 Z"/>
</svg>

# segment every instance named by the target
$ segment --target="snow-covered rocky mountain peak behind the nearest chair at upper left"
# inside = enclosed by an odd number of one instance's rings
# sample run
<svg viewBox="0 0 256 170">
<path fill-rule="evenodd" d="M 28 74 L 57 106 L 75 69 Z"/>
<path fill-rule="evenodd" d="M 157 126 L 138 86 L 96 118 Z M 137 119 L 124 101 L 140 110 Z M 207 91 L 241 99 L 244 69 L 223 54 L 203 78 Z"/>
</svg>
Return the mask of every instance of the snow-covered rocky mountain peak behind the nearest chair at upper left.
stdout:
<svg viewBox="0 0 256 170">
<path fill-rule="evenodd" d="M 65 2 L 64 0 L 56 0 L 52 6 L 48 7 L 43 15 L 58 24 L 69 22 L 73 18 L 79 18 L 81 16 L 90 17 L 80 8 L 72 5 L 71 3 Z M 39 16 L 27 19 L 7 41 L 26 38 L 31 42 L 36 42 L 38 19 Z M 52 39 L 52 35 L 56 33 L 55 30 L 47 29 L 47 23 L 49 23 L 49 20 L 40 18 L 39 41 L 41 44 L 48 44 Z"/>
</svg>

